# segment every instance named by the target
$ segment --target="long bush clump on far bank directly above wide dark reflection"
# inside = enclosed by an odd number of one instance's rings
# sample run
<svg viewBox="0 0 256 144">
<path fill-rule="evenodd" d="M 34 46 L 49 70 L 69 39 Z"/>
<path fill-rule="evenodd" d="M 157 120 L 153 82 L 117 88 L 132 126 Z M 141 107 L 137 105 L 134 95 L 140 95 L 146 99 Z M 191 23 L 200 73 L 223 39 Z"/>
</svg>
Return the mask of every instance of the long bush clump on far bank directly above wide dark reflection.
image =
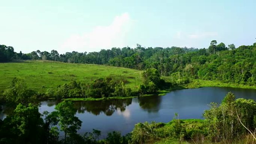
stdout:
<svg viewBox="0 0 256 144">
<path fill-rule="evenodd" d="M 56 89 L 47 89 L 45 95 L 54 98 L 108 98 L 132 96 L 132 91 L 131 88 L 125 86 L 123 81 L 107 77 L 96 79 L 88 84 L 72 81 Z"/>
</svg>

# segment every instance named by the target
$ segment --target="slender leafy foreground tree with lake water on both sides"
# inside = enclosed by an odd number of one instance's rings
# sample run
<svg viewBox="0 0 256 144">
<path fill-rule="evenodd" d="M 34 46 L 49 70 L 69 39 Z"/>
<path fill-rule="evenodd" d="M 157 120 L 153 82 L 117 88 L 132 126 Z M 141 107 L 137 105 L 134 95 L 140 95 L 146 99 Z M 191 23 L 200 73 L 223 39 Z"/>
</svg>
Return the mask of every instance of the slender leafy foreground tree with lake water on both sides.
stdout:
<svg viewBox="0 0 256 144">
<path fill-rule="evenodd" d="M 64 131 L 64 140 L 66 143 L 67 135 L 76 134 L 77 130 L 80 129 L 82 121 L 75 116 L 76 108 L 70 101 L 60 102 L 56 107 L 59 125 L 61 131 Z"/>
</svg>

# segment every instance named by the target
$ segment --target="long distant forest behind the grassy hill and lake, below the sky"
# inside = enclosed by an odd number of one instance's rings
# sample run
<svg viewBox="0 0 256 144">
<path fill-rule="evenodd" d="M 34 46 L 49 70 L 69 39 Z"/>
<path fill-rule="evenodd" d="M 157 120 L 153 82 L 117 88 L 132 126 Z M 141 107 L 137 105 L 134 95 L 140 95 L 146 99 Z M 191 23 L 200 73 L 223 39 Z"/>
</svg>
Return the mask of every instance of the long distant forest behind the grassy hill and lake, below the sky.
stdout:
<svg viewBox="0 0 256 144">
<path fill-rule="evenodd" d="M 160 75 L 179 75 L 179 79 L 221 80 L 243 85 L 256 84 L 256 43 L 235 48 L 234 44 L 210 42 L 208 49 L 197 48 L 136 48 L 102 49 L 100 52 L 66 52 L 56 50 L 15 53 L 10 46 L 0 45 L 0 62 L 15 59 L 42 59 L 70 63 L 106 64 L 146 70 L 155 68 Z"/>
</svg>

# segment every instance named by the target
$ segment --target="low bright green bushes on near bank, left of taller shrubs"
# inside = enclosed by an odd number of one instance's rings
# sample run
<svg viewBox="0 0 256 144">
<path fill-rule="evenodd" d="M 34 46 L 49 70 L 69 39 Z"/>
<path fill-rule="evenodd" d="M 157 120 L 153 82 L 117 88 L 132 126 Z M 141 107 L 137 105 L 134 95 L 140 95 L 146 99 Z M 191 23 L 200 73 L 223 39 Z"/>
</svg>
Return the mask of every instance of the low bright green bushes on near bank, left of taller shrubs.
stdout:
<svg viewBox="0 0 256 144">
<path fill-rule="evenodd" d="M 182 140 L 191 140 L 203 135 L 206 129 L 203 126 L 204 120 L 175 119 L 169 123 L 138 123 L 131 132 L 131 144 L 153 143 L 168 138 L 175 142 L 182 143 Z"/>
</svg>

